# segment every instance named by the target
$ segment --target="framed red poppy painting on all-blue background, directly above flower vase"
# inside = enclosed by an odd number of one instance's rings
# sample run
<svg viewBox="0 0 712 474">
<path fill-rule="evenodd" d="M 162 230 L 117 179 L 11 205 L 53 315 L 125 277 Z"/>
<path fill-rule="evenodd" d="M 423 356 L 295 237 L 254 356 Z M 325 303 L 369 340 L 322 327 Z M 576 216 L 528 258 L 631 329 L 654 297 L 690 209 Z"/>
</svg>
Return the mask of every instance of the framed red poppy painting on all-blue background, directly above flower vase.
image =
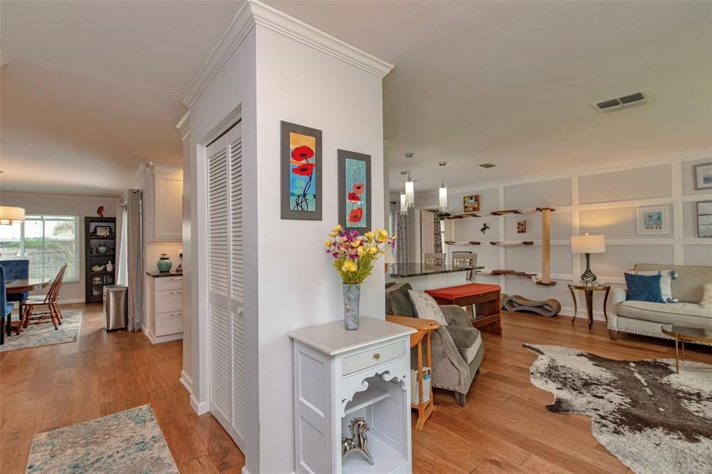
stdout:
<svg viewBox="0 0 712 474">
<path fill-rule="evenodd" d="M 363 233 L 371 228 L 371 157 L 339 150 L 339 223 Z"/>
</svg>

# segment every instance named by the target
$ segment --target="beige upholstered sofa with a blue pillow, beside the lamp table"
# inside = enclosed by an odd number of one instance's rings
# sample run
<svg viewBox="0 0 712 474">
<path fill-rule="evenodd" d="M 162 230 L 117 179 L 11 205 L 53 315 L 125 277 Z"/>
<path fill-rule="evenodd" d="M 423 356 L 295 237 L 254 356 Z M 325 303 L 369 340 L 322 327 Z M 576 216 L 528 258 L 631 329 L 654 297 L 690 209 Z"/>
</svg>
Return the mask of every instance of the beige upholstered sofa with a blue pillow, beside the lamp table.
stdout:
<svg viewBox="0 0 712 474">
<path fill-rule="evenodd" d="M 672 281 L 672 297 L 679 302 L 626 301 L 624 289 L 611 289 L 609 305 L 613 311 L 608 315 L 611 339 L 617 339 L 621 332 L 669 339 L 660 331 L 664 324 L 712 328 L 712 308 L 699 304 L 703 285 L 712 281 L 712 266 L 636 264 L 635 270 L 677 271 L 678 277 Z"/>
</svg>

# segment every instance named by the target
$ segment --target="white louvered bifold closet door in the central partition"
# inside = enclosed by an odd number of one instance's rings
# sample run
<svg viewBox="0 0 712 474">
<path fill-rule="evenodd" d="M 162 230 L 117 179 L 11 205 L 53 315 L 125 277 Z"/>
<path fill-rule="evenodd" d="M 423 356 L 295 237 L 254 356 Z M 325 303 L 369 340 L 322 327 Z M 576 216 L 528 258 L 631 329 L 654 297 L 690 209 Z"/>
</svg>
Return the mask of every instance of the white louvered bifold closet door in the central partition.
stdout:
<svg viewBox="0 0 712 474">
<path fill-rule="evenodd" d="M 206 149 L 210 411 L 244 450 L 242 138 L 237 124 Z"/>
</svg>

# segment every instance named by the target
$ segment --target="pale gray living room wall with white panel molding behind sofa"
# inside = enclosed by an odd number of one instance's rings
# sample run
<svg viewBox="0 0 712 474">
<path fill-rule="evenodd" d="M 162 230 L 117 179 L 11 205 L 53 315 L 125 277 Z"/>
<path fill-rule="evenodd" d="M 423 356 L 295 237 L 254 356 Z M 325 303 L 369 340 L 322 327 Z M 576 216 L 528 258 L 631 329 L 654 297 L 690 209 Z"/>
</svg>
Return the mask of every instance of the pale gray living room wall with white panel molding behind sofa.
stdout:
<svg viewBox="0 0 712 474">
<path fill-rule="evenodd" d="M 693 167 L 708 163 L 712 150 L 696 150 L 679 156 L 651 158 L 608 168 L 523 177 L 508 181 L 483 183 L 451 190 L 449 212 L 461 213 L 462 198 L 479 194 L 481 212 L 498 209 L 552 206 L 551 273 L 557 286 L 538 286 L 516 276 L 477 277 L 483 283 L 499 284 L 503 293 L 519 294 L 543 300 L 555 298 L 562 303 L 562 314 L 571 315 L 573 305 L 567 282 L 577 280 L 585 269 L 583 256 L 572 255 L 572 235 L 604 234 L 606 252 L 592 255 L 591 266 L 599 281 L 616 286 L 625 283 L 623 273 L 641 263 L 712 265 L 712 239 L 695 238 L 696 202 L 712 200 L 712 193 L 695 190 Z M 437 205 L 437 192 L 417 196 L 419 207 Z M 659 235 L 637 233 L 639 208 L 668 208 L 669 232 Z M 517 232 L 517 222 L 526 220 L 525 233 Z M 540 216 L 506 215 L 454 220 L 455 241 L 478 241 L 478 246 L 448 245 L 448 251 L 477 252 L 478 264 L 491 269 L 515 269 L 530 273 L 541 271 Z M 490 229 L 482 234 L 487 222 Z M 494 240 L 533 240 L 533 246 L 500 247 Z M 485 271 L 486 271 L 485 270 Z M 595 296 L 594 317 L 603 320 L 602 295 Z M 583 307 L 582 307 L 583 306 Z M 585 318 L 585 305 L 578 308 Z"/>
</svg>

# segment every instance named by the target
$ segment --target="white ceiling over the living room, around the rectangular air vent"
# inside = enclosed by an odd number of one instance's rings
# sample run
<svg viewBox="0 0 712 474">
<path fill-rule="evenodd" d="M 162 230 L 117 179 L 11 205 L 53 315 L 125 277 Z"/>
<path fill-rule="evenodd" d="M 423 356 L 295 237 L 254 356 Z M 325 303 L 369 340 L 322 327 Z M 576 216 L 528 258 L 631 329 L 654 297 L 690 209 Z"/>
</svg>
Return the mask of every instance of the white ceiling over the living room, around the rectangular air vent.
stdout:
<svg viewBox="0 0 712 474">
<path fill-rule="evenodd" d="M 709 1 L 268 3 L 395 65 L 392 190 L 404 169 L 434 190 L 712 146 Z M 651 105 L 590 107 L 639 90 Z"/>
</svg>

